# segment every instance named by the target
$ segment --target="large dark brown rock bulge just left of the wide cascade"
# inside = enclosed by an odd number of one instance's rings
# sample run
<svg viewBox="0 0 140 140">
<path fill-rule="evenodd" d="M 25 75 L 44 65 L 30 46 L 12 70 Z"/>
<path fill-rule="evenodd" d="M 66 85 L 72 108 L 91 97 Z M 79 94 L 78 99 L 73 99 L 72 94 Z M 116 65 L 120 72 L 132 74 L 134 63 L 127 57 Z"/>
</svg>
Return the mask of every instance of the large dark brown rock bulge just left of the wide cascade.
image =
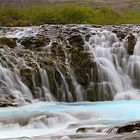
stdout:
<svg viewBox="0 0 140 140">
<path fill-rule="evenodd" d="M 70 56 L 76 79 L 80 85 L 86 88 L 91 80 L 91 69 L 95 69 L 92 54 L 73 48 L 70 50 Z"/>
</svg>

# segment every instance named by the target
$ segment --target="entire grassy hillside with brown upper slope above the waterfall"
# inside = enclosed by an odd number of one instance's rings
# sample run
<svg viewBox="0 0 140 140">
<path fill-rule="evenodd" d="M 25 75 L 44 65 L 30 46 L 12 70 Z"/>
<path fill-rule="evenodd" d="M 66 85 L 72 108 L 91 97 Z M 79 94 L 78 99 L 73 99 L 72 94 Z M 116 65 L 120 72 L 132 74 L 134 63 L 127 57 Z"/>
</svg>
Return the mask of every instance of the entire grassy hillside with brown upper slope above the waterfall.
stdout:
<svg viewBox="0 0 140 140">
<path fill-rule="evenodd" d="M 1 26 L 140 24 L 140 0 L 0 0 Z"/>
</svg>

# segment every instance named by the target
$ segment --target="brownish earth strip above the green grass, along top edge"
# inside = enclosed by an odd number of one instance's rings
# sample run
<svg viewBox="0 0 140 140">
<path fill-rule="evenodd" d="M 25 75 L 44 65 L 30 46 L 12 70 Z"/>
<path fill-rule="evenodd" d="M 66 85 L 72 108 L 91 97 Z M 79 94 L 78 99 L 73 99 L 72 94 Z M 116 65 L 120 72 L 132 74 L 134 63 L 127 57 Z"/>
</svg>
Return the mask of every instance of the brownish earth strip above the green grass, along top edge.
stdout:
<svg viewBox="0 0 140 140">
<path fill-rule="evenodd" d="M 109 6 L 117 9 L 139 8 L 139 0 L 0 0 L 0 6 L 27 6 L 32 4 L 74 4 L 93 7 Z"/>
</svg>

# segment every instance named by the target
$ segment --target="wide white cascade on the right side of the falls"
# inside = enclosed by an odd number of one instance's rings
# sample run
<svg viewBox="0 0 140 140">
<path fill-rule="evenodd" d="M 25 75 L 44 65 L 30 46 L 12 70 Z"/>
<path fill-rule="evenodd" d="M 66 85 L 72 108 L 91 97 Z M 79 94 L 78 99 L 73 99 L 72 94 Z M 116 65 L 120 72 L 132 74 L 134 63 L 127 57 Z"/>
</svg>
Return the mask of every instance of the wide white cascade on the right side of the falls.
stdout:
<svg viewBox="0 0 140 140">
<path fill-rule="evenodd" d="M 140 87 L 140 38 L 135 46 L 134 55 L 129 58 L 126 40 L 120 41 L 109 31 L 93 35 L 88 46 L 97 63 L 98 91 L 103 95 L 111 92 L 115 100 L 139 100 L 139 88 L 135 86 Z"/>
</svg>

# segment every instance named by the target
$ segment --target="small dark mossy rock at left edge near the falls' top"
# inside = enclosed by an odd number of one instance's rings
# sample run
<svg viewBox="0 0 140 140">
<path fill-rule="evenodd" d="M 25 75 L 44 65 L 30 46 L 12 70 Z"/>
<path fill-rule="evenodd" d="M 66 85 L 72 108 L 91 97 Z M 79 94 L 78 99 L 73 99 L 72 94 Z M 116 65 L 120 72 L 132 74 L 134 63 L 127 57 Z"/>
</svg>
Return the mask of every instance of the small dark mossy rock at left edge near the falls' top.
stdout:
<svg viewBox="0 0 140 140">
<path fill-rule="evenodd" d="M 6 45 L 10 48 L 15 48 L 16 47 L 16 40 L 15 39 L 10 39 L 7 37 L 1 37 L 0 38 L 0 44 L 1 45 Z"/>
</svg>

